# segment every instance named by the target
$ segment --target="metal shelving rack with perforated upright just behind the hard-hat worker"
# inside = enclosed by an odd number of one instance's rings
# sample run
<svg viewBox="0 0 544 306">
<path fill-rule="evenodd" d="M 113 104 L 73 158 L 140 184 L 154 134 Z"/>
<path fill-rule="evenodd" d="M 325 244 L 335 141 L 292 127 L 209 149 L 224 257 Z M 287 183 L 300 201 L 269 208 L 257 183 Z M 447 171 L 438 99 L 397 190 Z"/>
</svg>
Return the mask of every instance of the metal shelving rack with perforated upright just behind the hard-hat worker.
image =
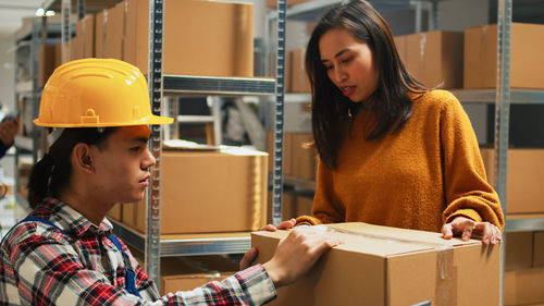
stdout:
<svg viewBox="0 0 544 306">
<path fill-rule="evenodd" d="M 86 9 L 94 11 L 109 8 L 120 0 L 77 0 L 77 15 L 85 16 Z M 63 44 L 67 42 L 70 27 L 69 15 L 72 12 L 71 0 L 47 0 L 44 10 L 62 12 Z M 276 81 L 264 77 L 208 77 L 193 75 L 163 75 L 162 73 L 162 42 L 163 42 L 164 2 L 149 1 L 149 93 L 153 114 L 161 114 L 163 95 L 189 96 L 265 96 L 275 93 Z M 64 52 L 69 47 L 63 47 Z M 151 182 L 148 188 L 147 231 L 141 234 L 123 223 L 111 220 L 113 232 L 131 246 L 143 252 L 146 260 L 146 271 L 150 279 L 159 284 L 160 258 L 164 256 L 193 256 L 212 254 L 239 254 L 250 247 L 249 232 L 239 233 L 207 233 L 161 235 L 160 205 L 161 205 L 161 151 L 162 130 L 159 125 L 151 126 L 149 147 L 157 159 L 151 169 Z"/>
</svg>

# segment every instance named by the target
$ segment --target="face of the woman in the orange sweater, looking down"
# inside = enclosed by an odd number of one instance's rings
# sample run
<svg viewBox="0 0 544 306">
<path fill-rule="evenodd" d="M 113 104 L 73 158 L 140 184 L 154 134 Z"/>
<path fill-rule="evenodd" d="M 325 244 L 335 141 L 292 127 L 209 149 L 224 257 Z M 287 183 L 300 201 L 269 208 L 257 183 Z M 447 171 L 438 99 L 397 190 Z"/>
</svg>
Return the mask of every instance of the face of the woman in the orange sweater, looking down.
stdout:
<svg viewBox="0 0 544 306">
<path fill-rule="evenodd" d="M 367 42 L 345 28 L 333 28 L 319 40 L 321 62 L 329 78 L 354 102 L 369 98 L 378 88 L 378 70 Z"/>
</svg>

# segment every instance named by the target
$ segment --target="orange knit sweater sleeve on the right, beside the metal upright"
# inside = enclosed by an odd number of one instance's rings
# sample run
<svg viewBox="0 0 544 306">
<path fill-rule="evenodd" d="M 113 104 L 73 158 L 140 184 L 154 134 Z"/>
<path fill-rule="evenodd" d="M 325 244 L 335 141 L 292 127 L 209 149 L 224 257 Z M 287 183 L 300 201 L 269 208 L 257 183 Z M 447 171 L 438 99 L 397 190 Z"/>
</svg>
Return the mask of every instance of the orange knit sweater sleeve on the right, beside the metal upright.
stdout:
<svg viewBox="0 0 544 306">
<path fill-rule="evenodd" d="M 447 223 L 463 216 L 478 222 L 487 221 L 503 229 L 504 216 L 498 195 L 487 183 L 470 120 L 452 94 L 441 95 L 440 98 L 440 137 L 447 204 L 443 221 Z"/>
</svg>

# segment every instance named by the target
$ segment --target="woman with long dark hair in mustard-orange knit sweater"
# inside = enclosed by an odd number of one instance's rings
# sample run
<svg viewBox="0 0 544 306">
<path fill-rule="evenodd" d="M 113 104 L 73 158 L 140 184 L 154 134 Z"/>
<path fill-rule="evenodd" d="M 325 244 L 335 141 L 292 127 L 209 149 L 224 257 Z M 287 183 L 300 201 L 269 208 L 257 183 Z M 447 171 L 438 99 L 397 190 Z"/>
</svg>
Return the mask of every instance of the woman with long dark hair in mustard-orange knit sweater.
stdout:
<svg viewBox="0 0 544 306">
<path fill-rule="evenodd" d="M 500 240 L 504 218 L 471 123 L 448 91 L 410 75 L 366 1 L 331 9 L 307 47 L 320 161 L 312 216 Z M 285 224 L 284 224 L 285 227 Z"/>
</svg>

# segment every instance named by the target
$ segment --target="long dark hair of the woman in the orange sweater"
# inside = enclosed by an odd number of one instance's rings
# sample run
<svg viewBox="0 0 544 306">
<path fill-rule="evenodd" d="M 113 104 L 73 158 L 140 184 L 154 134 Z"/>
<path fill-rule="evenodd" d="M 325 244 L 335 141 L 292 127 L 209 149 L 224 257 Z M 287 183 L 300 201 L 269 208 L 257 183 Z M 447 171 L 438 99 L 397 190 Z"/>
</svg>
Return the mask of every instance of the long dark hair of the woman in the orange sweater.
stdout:
<svg viewBox="0 0 544 306">
<path fill-rule="evenodd" d="M 358 107 L 331 82 L 321 62 L 319 40 L 330 29 L 345 28 L 372 50 L 376 64 L 378 89 L 364 101 L 364 108 L 376 117 L 376 124 L 366 136 L 372 140 L 398 132 L 411 115 L 412 101 L 408 93 L 423 94 L 429 89 L 410 75 L 395 47 L 387 22 L 363 0 L 353 0 L 331 9 L 313 29 L 306 50 L 306 72 L 312 93 L 312 131 L 323 163 L 336 168 L 342 143 L 342 126 L 349 108 Z"/>
</svg>

